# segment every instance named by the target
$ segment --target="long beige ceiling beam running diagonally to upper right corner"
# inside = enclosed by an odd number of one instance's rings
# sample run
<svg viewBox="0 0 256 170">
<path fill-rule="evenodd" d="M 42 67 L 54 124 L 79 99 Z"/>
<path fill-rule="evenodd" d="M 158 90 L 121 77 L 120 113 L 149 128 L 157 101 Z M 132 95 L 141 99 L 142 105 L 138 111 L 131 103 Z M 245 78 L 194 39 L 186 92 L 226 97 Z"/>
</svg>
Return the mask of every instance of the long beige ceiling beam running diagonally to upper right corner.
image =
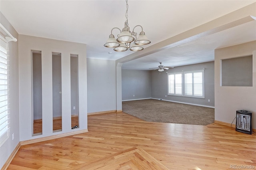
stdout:
<svg viewBox="0 0 256 170">
<path fill-rule="evenodd" d="M 192 28 L 186 32 L 168 38 L 162 42 L 158 42 L 152 46 L 144 48 L 144 50 L 129 54 L 123 58 L 116 60 L 116 63 L 125 63 L 137 58 L 141 58 L 156 52 L 166 50 L 175 46 L 179 46 L 186 42 L 214 34 L 241 24 L 245 24 L 255 20 L 256 17 L 256 2 L 240 8 L 234 12 L 226 14 L 220 18 Z"/>
</svg>

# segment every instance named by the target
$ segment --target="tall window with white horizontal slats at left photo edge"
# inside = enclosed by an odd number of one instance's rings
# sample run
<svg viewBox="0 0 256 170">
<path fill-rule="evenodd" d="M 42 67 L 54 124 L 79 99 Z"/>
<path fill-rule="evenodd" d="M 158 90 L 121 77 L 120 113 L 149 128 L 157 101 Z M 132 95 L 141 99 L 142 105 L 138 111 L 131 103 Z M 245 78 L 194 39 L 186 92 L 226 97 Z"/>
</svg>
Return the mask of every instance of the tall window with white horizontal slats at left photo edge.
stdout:
<svg viewBox="0 0 256 170">
<path fill-rule="evenodd" d="M 9 138 L 8 43 L 0 36 L 0 146 Z"/>
</svg>

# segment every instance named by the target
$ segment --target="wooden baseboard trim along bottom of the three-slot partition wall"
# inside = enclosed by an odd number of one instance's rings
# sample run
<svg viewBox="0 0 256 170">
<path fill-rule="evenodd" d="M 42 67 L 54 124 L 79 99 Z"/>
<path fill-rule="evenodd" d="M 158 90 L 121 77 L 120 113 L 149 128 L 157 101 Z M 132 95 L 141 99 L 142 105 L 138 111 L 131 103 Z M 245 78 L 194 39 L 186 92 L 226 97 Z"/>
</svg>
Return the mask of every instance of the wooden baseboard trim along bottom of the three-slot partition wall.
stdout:
<svg viewBox="0 0 256 170">
<path fill-rule="evenodd" d="M 76 135 L 76 134 L 86 133 L 86 132 L 88 132 L 88 129 L 77 130 L 75 132 L 67 132 L 64 134 L 56 134 L 56 135 L 46 136 L 46 137 L 42 137 L 42 138 L 24 140 L 24 141 L 20 141 L 20 145 L 22 146 L 22 145 L 27 145 L 27 144 L 33 144 L 33 143 L 37 143 L 37 142 L 43 142 L 46 140 L 52 140 L 52 139 L 66 137 L 66 136 L 72 136 L 72 135 Z"/>
</svg>

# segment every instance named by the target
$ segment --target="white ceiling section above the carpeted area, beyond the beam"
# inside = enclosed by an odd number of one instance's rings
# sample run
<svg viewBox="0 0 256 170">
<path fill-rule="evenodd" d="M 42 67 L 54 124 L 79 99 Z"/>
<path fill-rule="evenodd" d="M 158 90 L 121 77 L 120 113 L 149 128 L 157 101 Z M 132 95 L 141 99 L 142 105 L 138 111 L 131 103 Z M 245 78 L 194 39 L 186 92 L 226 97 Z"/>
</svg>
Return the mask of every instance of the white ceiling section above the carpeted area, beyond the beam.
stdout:
<svg viewBox="0 0 256 170">
<path fill-rule="evenodd" d="M 167 67 L 210 62 L 214 61 L 214 49 L 254 40 L 256 20 L 126 62 L 122 69 L 149 70 L 158 67 L 159 62 Z"/>
</svg>

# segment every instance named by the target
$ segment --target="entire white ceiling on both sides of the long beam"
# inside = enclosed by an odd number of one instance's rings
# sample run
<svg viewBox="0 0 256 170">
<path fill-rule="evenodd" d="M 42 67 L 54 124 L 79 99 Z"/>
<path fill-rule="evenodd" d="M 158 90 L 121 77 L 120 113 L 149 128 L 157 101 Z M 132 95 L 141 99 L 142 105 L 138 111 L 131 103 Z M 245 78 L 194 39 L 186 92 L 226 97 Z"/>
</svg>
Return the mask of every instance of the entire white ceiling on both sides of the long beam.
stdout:
<svg viewBox="0 0 256 170">
<path fill-rule="evenodd" d="M 128 0 L 130 29 L 141 25 L 151 44 L 210 22 L 256 0 Z M 87 58 L 118 60 L 134 52 L 104 47 L 113 27 L 124 27 L 124 0 L 0 0 L 0 11 L 18 34 L 87 44 Z M 214 60 L 214 49 L 256 40 L 256 21 L 202 36 L 126 62 L 124 69 L 148 70 Z M 140 32 L 140 28 L 136 28 Z M 113 34 L 118 32 L 113 31 Z M 108 54 L 112 52 L 112 54 Z M 134 55 L 136 55 L 135 53 Z"/>
</svg>

